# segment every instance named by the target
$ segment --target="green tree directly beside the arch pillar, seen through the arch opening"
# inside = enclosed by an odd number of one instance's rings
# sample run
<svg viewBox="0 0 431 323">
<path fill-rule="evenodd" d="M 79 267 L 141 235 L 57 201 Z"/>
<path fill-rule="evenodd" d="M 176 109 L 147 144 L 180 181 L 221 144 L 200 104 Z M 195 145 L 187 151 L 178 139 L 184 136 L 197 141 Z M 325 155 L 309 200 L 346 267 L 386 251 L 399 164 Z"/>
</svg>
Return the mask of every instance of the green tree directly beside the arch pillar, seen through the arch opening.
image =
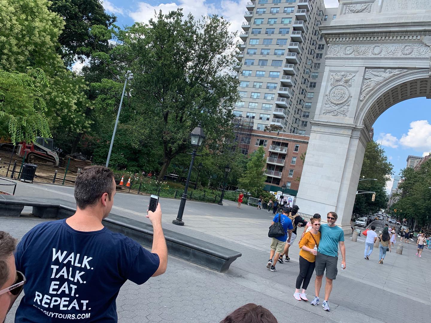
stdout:
<svg viewBox="0 0 431 323">
<path fill-rule="evenodd" d="M 362 162 L 361 179 L 371 178 L 375 180 L 359 181 L 358 191 L 376 192 L 375 201 L 372 201 L 372 193 L 356 195 L 353 213 L 368 214 L 386 208 L 388 196 L 386 182 L 390 179 L 394 166 L 387 161 L 384 149 L 375 141 L 367 143 L 365 147 L 364 161 Z"/>
</svg>

